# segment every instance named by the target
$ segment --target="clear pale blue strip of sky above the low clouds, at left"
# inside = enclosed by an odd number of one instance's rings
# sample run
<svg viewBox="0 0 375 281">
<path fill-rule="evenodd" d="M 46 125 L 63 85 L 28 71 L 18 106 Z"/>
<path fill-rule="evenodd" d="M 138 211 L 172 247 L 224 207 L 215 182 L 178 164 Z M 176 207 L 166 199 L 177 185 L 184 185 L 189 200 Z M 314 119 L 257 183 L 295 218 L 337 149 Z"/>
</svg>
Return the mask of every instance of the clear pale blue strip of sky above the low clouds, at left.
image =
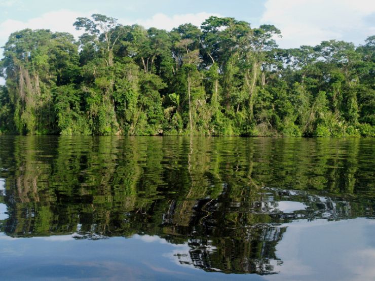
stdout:
<svg viewBox="0 0 375 281">
<path fill-rule="evenodd" d="M 156 13 L 164 13 L 172 16 L 175 14 L 189 14 L 197 12 L 218 13 L 226 16 L 233 15 L 242 19 L 251 20 L 259 18 L 265 10 L 264 4 L 266 0 L 240 0 L 230 3 L 229 1 L 152 1 L 152 0 L 90 0 L 90 1 L 46 1 L 46 0 L 1 0 L 0 3 L 8 3 L 2 16 L 7 18 L 11 16 L 13 19 L 24 20 L 38 17 L 43 13 L 57 11 L 61 9 L 69 9 L 72 11 L 87 12 L 89 10 L 98 10 L 101 13 L 117 17 L 127 17 L 131 20 L 139 18 L 151 18 Z M 32 4 L 32 5 L 28 5 Z M 4 5 L 6 6 L 6 5 Z M 3 6 L 3 7 L 4 7 Z M 246 9 L 241 9 L 245 7 Z"/>
</svg>

